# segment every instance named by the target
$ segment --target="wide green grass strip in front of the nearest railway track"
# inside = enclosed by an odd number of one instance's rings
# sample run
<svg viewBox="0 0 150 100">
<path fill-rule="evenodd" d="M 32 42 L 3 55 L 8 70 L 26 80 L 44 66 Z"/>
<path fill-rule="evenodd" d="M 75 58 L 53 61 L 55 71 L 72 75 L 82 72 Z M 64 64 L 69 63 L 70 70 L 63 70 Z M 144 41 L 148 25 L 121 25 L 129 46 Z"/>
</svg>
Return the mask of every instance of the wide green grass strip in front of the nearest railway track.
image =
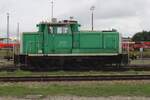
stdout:
<svg viewBox="0 0 150 100">
<path fill-rule="evenodd" d="M 17 85 L 0 86 L 0 96 L 150 96 L 150 84 L 82 84 L 82 85 Z"/>
</svg>

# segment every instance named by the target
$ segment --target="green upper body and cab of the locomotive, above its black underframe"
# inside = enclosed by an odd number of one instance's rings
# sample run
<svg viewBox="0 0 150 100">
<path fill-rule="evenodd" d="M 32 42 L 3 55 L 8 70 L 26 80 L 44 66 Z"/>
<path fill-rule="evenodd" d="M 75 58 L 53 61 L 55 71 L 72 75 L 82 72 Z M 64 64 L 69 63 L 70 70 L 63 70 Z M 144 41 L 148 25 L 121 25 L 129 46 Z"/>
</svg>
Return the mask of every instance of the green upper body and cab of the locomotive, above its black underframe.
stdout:
<svg viewBox="0 0 150 100">
<path fill-rule="evenodd" d="M 118 32 L 79 31 L 77 22 L 37 26 L 38 32 L 23 33 L 23 54 L 119 53 Z"/>
</svg>

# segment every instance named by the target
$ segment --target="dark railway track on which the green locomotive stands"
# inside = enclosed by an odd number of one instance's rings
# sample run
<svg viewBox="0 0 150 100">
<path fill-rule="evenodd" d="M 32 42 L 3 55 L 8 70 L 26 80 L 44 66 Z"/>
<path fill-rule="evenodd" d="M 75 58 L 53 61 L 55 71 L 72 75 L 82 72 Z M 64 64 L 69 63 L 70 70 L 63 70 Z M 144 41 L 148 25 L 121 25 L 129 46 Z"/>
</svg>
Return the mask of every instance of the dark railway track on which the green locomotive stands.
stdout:
<svg viewBox="0 0 150 100">
<path fill-rule="evenodd" d="M 16 71 L 20 69 L 20 67 L 18 66 L 7 66 L 7 67 L 1 67 L 0 68 L 0 72 L 2 71 Z M 41 70 L 34 70 L 34 69 L 22 69 L 22 70 L 27 70 L 27 71 L 42 71 L 42 72 L 46 72 L 46 71 L 58 71 L 58 69 L 41 69 Z M 114 66 L 110 66 L 110 67 L 99 67 L 99 68 L 86 68 L 86 69 L 66 69 L 66 71 L 91 71 L 91 70 L 100 70 L 100 71 L 128 71 L 128 70 L 135 70 L 135 71 L 150 71 L 150 65 L 129 65 L 129 66 L 120 66 L 120 67 L 114 67 Z M 65 69 L 64 69 L 65 71 Z"/>
</svg>

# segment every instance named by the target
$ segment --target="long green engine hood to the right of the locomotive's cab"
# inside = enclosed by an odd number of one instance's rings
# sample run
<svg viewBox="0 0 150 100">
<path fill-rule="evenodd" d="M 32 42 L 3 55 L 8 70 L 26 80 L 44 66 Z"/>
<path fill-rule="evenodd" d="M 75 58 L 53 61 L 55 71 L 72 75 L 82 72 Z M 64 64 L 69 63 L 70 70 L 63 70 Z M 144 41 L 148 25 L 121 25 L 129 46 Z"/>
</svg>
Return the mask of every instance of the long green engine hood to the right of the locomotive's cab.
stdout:
<svg viewBox="0 0 150 100">
<path fill-rule="evenodd" d="M 80 32 L 72 53 L 119 53 L 118 32 Z"/>
</svg>

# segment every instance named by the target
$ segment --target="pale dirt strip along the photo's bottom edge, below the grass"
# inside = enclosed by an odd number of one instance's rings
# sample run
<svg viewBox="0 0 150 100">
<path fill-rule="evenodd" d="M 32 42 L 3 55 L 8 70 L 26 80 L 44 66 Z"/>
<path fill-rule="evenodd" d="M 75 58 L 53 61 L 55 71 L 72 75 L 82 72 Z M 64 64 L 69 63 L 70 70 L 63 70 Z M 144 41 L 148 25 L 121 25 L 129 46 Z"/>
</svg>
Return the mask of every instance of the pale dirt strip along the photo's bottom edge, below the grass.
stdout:
<svg viewBox="0 0 150 100">
<path fill-rule="evenodd" d="M 38 98 L 36 96 L 27 96 L 24 98 L 17 97 L 0 97 L 0 100 L 150 100 L 150 97 L 77 97 L 77 96 L 48 96 Z"/>
</svg>

